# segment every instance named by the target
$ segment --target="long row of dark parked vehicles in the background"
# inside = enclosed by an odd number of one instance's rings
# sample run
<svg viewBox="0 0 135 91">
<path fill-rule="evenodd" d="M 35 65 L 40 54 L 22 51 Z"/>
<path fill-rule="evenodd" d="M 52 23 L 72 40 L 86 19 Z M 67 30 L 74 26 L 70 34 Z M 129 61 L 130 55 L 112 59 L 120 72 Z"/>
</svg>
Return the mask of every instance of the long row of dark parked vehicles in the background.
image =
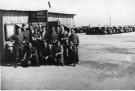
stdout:
<svg viewBox="0 0 135 91">
<path fill-rule="evenodd" d="M 105 27 L 82 27 L 86 34 L 118 34 L 135 31 L 133 26 L 105 26 Z"/>
</svg>

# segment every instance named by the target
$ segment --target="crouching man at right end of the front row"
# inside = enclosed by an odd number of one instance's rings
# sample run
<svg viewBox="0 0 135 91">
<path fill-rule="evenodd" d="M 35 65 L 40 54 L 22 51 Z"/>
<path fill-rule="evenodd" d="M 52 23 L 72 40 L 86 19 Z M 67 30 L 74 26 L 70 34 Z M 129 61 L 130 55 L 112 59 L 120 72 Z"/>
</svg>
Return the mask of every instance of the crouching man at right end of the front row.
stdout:
<svg viewBox="0 0 135 91">
<path fill-rule="evenodd" d="M 77 48 L 75 45 L 73 45 L 73 42 L 69 42 L 68 47 L 68 60 L 70 63 L 73 63 L 74 66 L 76 66 L 77 63 Z"/>
</svg>

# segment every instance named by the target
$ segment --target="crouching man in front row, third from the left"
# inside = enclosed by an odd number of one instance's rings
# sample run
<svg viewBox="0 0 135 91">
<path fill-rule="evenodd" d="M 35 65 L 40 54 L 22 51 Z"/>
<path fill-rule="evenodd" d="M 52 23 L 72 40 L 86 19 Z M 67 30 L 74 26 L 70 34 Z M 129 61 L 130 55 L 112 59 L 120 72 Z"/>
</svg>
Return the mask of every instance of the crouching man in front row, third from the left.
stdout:
<svg viewBox="0 0 135 91">
<path fill-rule="evenodd" d="M 64 66 L 63 47 L 60 45 L 59 41 L 53 46 L 53 57 L 57 64 L 61 63 L 61 65 Z"/>
</svg>

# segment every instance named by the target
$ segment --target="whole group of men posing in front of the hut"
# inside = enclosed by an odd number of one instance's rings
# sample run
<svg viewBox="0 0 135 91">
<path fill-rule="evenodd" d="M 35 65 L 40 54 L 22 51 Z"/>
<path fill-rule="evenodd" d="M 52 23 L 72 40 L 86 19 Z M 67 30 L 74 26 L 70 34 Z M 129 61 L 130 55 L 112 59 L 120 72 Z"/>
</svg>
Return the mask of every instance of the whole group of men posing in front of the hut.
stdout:
<svg viewBox="0 0 135 91">
<path fill-rule="evenodd" d="M 46 27 L 23 24 L 10 38 L 14 42 L 15 68 L 22 66 L 62 65 L 79 63 L 79 37 L 74 29 L 66 31 L 64 26 L 52 27 L 47 33 Z"/>
</svg>

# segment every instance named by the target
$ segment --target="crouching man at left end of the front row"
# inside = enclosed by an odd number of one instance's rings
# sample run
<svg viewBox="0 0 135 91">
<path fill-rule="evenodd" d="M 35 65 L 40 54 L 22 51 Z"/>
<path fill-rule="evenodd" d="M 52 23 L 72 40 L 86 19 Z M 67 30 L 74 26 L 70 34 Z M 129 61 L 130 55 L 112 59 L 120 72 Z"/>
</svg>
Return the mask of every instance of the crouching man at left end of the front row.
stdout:
<svg viewBox="0 0 135 91">
<path fill-rule="evenodd" d="M 23 66 L 30 66 L 30 65 L 38 65 L 38 56 L 37 56 L 37 51 L 35 47 L 32 46 L 32 44 L 29 42 L 28 43 L 28 48 L 25 51 L 24 58 L 22 60 L 22 65 Z"/>
</svg>

